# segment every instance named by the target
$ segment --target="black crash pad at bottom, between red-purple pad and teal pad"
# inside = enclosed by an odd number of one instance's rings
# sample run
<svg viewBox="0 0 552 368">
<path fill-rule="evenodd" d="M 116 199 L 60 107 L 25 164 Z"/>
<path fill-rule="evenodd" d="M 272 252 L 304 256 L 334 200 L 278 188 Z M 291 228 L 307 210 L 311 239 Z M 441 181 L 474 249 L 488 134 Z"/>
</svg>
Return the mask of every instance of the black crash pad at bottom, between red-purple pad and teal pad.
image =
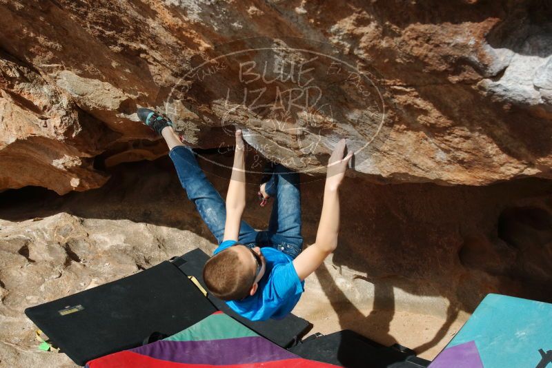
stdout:
<svg viewBox="0 0 552 368">
<path fill-rule="evenodd" d="M 386 347 L 351 330 L 313 336 L 288 349 L 294 354 L 319 362 L 350 368 L 422 368 L 430 362 L 417 358 L 414 351 Z"/>
</svg>

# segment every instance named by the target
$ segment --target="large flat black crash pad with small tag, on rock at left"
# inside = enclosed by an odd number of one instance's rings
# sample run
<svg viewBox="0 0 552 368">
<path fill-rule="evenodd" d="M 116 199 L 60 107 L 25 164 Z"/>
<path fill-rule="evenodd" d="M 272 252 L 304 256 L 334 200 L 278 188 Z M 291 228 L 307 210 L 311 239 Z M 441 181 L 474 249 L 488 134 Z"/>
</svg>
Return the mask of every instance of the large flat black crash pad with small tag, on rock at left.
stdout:
<svg viewBox="0 0 552 368">
<path fill-rule="evenodd" d="M 25 314 L 77 365 L 172 335 L 217 309 L 180 269 L 165 261 L 105 285 L 30 307 Z"/>
</svg>

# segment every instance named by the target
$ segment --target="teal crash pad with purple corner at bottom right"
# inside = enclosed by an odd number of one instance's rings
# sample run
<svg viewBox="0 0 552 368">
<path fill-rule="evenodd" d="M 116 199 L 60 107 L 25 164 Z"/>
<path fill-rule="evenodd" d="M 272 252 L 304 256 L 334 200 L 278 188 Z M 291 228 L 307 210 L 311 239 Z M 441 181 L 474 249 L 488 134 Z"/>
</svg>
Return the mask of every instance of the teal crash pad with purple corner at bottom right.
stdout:
<svg viewBox="0 0 552 368">
<path fill-rule="evenodd" d="M 549 365 L 550 363 L 550 365 Z M 430 368 L 552 368 L 552 304 L 487 295 Z"/>
</svg>

